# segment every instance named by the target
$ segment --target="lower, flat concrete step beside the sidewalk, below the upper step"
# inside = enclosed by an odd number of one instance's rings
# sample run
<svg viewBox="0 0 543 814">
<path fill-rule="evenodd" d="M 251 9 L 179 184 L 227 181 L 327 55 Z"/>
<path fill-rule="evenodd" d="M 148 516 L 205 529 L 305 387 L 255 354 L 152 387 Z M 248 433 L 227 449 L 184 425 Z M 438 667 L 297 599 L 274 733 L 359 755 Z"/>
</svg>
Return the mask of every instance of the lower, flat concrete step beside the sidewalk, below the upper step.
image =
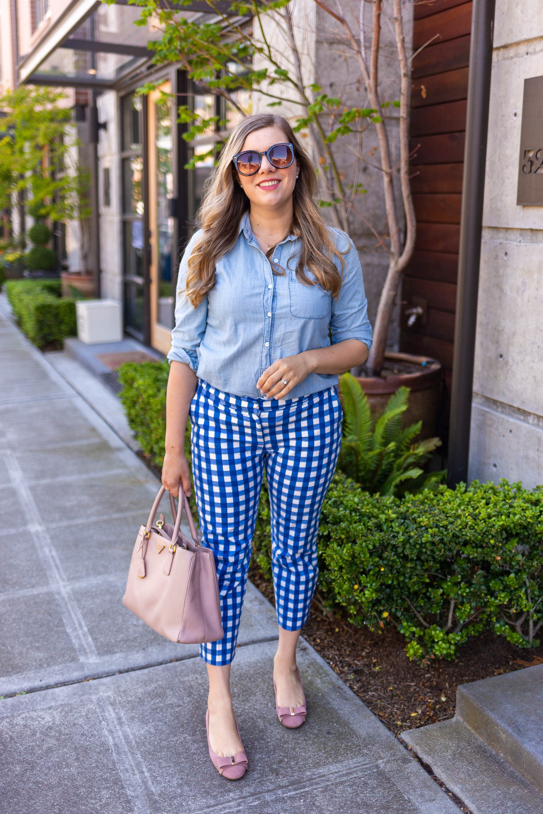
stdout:
<svg viewBox="0 0 543 814">
<path fill-rule="evenodd" d="M 543 795 L 462 720 L 411 729 L 401 739 L 471 814 L 543 812 Z"/>
</svg>

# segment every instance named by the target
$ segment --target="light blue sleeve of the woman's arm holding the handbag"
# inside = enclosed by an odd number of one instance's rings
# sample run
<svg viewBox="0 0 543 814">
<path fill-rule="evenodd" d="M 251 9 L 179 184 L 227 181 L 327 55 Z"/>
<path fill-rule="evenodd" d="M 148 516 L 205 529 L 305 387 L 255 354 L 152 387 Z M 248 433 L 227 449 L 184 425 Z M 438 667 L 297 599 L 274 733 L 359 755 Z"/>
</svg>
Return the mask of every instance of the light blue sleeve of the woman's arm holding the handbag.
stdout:
<svg viewBox="0 0 543 814">
<path fill-rule="evenodd" d="M 177 277 L 177 295 L 175 300 L 175 327 L 172 330 L 172 347 L 168 360 L 182 361 L 189 365 L 190 370 L 198 372 L 198 348 L 204 337 L 208 320 L 208 298 L 206 297 L 193 308 L 186 297 L 186 275 L 190 253 L 202 234 L 201 230 L 195 232 L 183 253 Z"/>
</svg>

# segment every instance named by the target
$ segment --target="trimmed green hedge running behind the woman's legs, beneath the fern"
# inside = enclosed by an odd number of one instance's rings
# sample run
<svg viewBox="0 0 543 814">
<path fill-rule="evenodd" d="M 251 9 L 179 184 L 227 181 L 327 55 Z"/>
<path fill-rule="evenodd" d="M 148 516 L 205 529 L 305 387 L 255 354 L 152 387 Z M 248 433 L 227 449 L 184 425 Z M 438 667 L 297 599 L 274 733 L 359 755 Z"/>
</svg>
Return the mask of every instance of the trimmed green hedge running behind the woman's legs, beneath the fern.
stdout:
<svg viewBox="0 0 543 814">
<path fill-rule="evenodd" d="M 121 399 L 142 449 L 164 456 L 167 363 L 120 369 Z M 188 448 L 187 433 L 187 453 Z M 351 622 L 395 626 L 411 659 L 452 659 L 485 629 L 536 646 L 543 622 L 543 487 L 502 481 L 381 497 L 335 475 L 318 541 L 319 590 Z M 262 490 L 253 558 L 271 574 Z"/>
</svg>

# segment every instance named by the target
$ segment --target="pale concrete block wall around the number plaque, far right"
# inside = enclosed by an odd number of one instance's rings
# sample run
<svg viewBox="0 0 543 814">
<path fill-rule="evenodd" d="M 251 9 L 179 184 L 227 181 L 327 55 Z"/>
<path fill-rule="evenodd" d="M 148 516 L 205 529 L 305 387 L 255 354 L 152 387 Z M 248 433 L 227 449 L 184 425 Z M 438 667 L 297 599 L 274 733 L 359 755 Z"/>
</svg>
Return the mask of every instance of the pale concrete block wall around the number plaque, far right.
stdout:
<svg viewBox="0 0 543 814">
<path fill-rule="evenodd" d="M 470 478 L 543 483 L 543 206 L 517 206 L 523 82 L 543 76 L 540 0 L 497 0 Z"/>
</svg>

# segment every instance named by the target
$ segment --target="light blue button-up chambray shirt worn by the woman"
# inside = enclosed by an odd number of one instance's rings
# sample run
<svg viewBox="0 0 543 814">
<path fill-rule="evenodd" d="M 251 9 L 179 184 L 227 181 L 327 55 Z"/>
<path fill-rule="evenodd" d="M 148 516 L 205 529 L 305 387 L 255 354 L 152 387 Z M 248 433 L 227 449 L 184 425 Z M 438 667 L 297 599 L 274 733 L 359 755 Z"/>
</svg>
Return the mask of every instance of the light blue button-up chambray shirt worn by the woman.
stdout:
<svg viewBox="0 0 543 814">
<path fill-rule="evenodd" d="M 193 308 L 184 293 L 188 260 L 197 231 L 183 254 L 177 281 L 175 327 L 169 361 L 182 361 L 199 379 L 235 396 L 261 398 L 256 382 L 274 361 L 344 339 L 371 346 L 371 326 L 358 253 L 339 229 L 331 228 L 344 254 L 346 269 L 337 298 L 320 286 L 296 278 L 300 239 L 289 235 L 274 250 L 272 266 L 252 234 L 248 212 L 239 224 L 234 247 L 217 261 L 217 282 Z M 339 260 L 336 260 L 339 271 Z M 308 273 L 310 277 L 311 274 Z M 310 373 L 293 387 L 289 399 L 309 396 L 337 384 L 338 377 Z"/>
</svg>

